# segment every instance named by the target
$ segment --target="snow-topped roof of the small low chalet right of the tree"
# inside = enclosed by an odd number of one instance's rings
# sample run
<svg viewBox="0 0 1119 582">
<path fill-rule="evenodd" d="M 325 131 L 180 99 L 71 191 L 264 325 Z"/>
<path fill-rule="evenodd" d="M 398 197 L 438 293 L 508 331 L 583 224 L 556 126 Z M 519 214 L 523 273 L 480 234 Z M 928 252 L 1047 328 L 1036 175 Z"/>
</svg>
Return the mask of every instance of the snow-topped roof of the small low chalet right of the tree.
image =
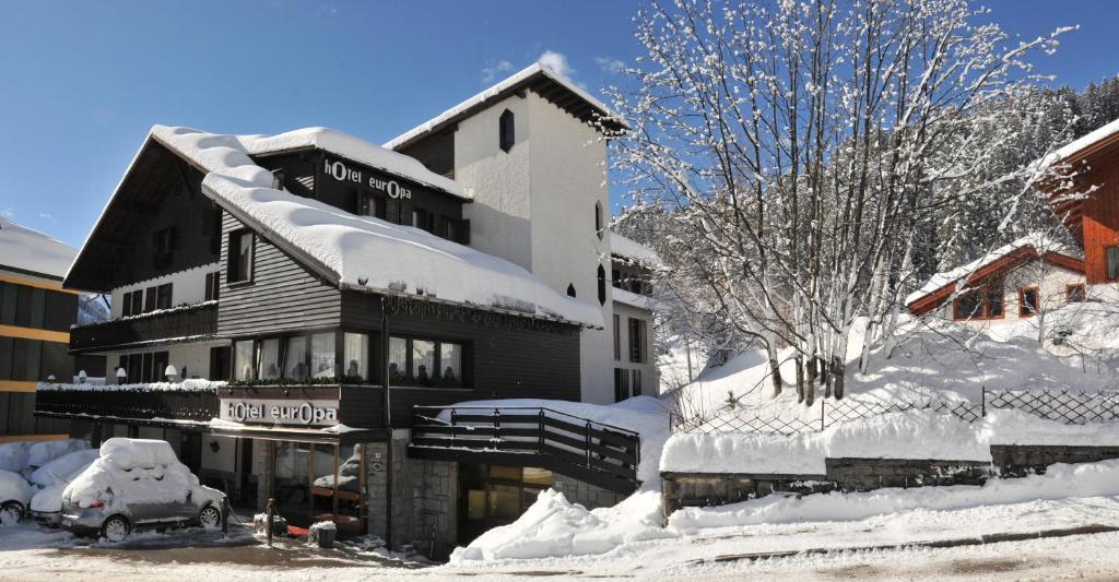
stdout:
<svg viewBox="0 0 1119 582">
<path fill-rule="evenodd" d="M 1038 257 L 1062 268 L 1084 271 L 1084 263 L 1079 251 L 1051 237 L 1033 232 L 998 247 L 971 263 L 933 275 L 920 289 L 905 297 L 905 304 L 911 312 L 925 313 L 957 290 Z"/>
</svg>

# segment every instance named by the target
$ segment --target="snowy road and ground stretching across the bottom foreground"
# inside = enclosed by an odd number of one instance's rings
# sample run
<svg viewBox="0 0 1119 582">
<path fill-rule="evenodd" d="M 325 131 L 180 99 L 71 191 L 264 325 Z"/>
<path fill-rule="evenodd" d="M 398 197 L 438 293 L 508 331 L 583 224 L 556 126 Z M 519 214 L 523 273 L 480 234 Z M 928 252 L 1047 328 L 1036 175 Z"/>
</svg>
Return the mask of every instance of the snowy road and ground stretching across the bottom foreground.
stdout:
<svg viewBox="0 0 1119 582">
<path fill-rule="evenodd" d="M 406 566 L 376 554 L 286 545 L 120 550 L 74 546 L 66 534 L 0 529 L 6 580 L 1115 580 L 1119 534 L 981 546 L 844 551 L 844 547 L 974 538 L 1084 524 L 1119 525 L 1119 497 L 1035 500 L 957 511 L 910 511 L 847 522 L 704 529 L 676 540 L 624 544 L 593 557 L 479 565 Z M 743 552 L 835 548 L 822 555 L 711 562 Z M 702 562 L 706 561 L 706 562 Z"/>
</svg>

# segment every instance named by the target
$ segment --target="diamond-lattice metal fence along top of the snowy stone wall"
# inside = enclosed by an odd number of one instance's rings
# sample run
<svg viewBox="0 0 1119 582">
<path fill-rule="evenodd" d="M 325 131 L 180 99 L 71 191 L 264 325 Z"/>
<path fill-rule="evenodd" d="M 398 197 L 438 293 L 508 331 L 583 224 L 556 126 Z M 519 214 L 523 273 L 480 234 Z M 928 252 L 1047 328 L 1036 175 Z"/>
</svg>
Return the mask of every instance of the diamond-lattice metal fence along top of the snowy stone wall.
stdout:
<svg viewBox="0 0 1119 582">
<path fill-rule="evenodd" d="M 1119 420 L 1119 392 L 1076 392 L 1069 390 L 982 390 L 980 402 L 947 401 L 927 398 L 919 401 L 867 400 L 849 397 L 845 400 L 820 399 L 800 414 L 762 416 L 724 408 L 711 417 L 671 417 L 673 432 L 752 432 L 792 436 L 816 432 L 852 420 L 891 412 L 932 410 L 966 422 L 975 422 L 991 409 L 1014 409 L 1065 424 L 1084 424 Z"/>
</svg>

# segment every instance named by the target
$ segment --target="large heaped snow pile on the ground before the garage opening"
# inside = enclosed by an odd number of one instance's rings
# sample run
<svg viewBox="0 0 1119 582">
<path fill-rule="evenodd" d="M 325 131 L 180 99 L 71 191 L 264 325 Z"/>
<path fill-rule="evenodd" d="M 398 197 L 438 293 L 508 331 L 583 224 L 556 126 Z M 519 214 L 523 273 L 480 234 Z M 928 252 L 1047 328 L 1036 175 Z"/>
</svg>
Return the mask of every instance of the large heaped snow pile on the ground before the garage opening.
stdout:
<svg viewBox="0 0 1119 582">
<path fill-rule="evenodd" d="M 660 494 L 641 492 L 614 507 L 586 511 L 544 492 L 513 524 L 495 527 L 451 554 L 451 563 L 602 554 L 619 545 L 673 537 L 661 526 Z"/>
</svg>

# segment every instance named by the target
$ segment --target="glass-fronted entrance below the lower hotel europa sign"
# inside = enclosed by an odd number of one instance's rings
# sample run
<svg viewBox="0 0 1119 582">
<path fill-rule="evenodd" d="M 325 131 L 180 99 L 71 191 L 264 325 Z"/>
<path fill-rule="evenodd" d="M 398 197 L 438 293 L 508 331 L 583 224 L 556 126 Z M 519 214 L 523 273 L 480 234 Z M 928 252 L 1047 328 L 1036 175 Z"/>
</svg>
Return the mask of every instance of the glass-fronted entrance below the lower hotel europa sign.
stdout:
<svg viewBox="0 0 1119 582">
<path fill-rule="evenodd" d="M 335 522 L 339 535 L 360 535 L 366 523 L 365 462 L 357 445 L 276 441 L 269 496 L 297 527 Z"/>
</svg>

